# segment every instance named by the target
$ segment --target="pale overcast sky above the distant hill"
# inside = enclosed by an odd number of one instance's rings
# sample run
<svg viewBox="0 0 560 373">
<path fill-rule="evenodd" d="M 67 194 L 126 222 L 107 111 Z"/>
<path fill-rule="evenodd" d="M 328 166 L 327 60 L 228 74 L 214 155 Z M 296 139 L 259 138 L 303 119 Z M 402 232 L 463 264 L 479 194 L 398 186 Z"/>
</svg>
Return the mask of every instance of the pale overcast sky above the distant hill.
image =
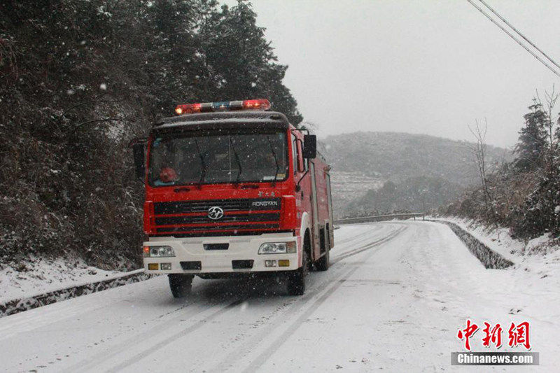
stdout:
<svg viewBox="0 0 560 373">
<path fill-rule="evenodd" d="M 513 146 L 535 90 L 560 90 L 560 78 L 466 0 L 251 2 L 319 136 L 470 140 L 467 126 L 487 118 L 487 141 Z M 560 64 L 560 1 L 486 3 Z"/>
</svg>

